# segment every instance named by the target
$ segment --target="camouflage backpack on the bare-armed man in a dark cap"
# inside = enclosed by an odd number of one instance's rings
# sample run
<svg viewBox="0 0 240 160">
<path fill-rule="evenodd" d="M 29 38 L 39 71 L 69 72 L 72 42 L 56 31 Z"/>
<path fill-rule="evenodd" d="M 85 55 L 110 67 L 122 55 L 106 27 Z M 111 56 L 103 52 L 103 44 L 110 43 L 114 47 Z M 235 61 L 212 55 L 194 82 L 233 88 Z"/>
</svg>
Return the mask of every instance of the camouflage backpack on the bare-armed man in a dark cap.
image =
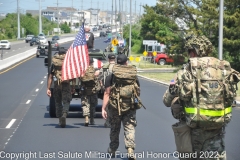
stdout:
<svg viewBox="0 0 240 160">
<path fill-rule="evenodd" d="M 113 67 L 113 80 L 109 103 L 118 109 L 119 115 L 130 109 L 141 108 L 140 88 L 137 85 L 137 69 L 132 65 L 118 65 Z"/>
</svg>

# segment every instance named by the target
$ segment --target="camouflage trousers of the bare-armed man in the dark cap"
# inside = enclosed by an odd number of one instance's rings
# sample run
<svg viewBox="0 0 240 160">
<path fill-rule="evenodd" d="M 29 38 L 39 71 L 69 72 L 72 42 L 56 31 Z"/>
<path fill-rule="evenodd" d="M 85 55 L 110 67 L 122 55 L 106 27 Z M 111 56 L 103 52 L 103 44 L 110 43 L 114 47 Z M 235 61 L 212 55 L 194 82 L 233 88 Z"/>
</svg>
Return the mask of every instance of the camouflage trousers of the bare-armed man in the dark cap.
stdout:
<svg viewBox="0 0 240 160">
<path fill-rule="evenodd" d="M 119 134 L 121 129 L 121 122 L 124 127 L 124 141 L 125 148 L 135 149 L 135 127 L 137 126 L 136 121 L 136 110 L 129 110 L 126 113 L 119 115 L 118 110 L 112 106 L 108 106 L 109 121 L 111 125 L 110 130 L 110 148 L 114 151 L 118 149 L 119 146 Z"/>
</svg>

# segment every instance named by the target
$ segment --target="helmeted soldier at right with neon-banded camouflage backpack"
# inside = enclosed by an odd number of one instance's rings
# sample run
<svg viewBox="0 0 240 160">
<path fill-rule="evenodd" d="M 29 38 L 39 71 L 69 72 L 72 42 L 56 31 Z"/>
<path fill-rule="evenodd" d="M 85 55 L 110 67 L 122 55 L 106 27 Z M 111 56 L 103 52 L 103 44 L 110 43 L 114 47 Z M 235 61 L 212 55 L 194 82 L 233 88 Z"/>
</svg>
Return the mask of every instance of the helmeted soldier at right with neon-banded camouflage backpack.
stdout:
<svg viewBox="0 0 240 160">
<path fill-rule="evenodd" d="M 185 48 L 190 59 L 163 96 L 179 119 L 172 126 L 177 151 L 192 153 L 188 160 L 226 160 L 225 127 L 231 120 L 239 73 L 229 62 L 208 56 L 212 43 L 205 36 L 187 37 Z"/>
</svg>

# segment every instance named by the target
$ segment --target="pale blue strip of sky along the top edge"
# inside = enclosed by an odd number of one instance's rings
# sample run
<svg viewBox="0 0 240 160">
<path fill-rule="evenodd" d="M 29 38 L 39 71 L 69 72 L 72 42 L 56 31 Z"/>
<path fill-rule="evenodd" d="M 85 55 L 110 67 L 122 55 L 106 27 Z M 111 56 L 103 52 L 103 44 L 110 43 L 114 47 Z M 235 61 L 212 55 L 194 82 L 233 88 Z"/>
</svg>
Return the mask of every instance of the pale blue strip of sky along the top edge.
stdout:
<svg viewBox="0 0 240 160">
<path fill-rule="evenodd" d="M 17 12 L 17 1 L 19 2 L 19 8 L 21 12 L 25 13 L 26 10 L 39 10 L 39 0 L 0 0 L 0 13 L 16 13 Z M 115 1 L 117 2 L 117 7 L 119 5 L 119 0 L 113 0 L 113 9 L 115 10 Z M 123 1 L 123 10 L 127 6 L 127 10 L 130 10 L 130 0 L 120 0 Z M 74 7 L 76 9 L 89 9 L 89 8 L 99 8 L 100 10 L 109 11 L 112 10 L 112 0 L 41 0 L 41 8 L 46 9 L 47 7 L 57 7 L 57 2 L 59 7 Z M 92 2 L 92 3 L 91 3 Z M 135 5 L 136 3 L 136 5 Z M 143 8 L 140 9 L 140 5 L 155 6 L 156 0 L 132 0 L 132 13 L 135 11 L 139 14 L 143 13 Z M 136 6 L 136 7 L 135 7 Z"/>
</svg>

